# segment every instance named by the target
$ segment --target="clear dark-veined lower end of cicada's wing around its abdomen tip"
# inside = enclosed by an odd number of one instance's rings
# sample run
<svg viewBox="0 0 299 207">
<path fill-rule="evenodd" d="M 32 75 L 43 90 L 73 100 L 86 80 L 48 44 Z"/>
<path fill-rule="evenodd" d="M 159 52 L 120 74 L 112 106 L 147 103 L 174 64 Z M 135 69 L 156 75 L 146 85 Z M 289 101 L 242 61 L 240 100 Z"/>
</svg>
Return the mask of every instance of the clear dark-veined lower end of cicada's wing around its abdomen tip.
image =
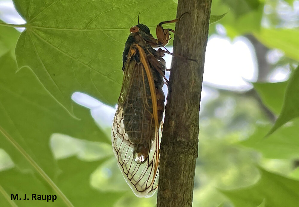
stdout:
<svg viewBox="0 0 299 207">
<path fill-rule="evenodd" d="M 118 107 L 118 113 L 122 113 L 122 108 Z M 112 146 L 118 167 L 122 171 L 126 182 L 138 197 L 151 197 L 158 186 L 158 166 L 155 172 L 155 160 L 159 159 L 156 145 L 152 144 L 148 160 L 138 164 L 134 160 L 134 144 L 127 138 L 124 125 L 118 114 L 115 115 L 112 130 Z M 156 137 L 158 139 L 158 136 Z M 154 140 L 156 142 L 156 140 Z"/>
</svg>

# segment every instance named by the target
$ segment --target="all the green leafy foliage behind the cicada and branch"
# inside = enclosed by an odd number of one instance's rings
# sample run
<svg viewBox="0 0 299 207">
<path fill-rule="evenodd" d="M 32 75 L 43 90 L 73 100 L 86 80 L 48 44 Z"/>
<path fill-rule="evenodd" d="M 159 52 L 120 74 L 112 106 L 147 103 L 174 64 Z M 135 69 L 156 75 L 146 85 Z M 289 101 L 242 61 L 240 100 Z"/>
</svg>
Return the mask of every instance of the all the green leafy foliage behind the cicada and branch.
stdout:
<svg viewBox="0 0 299 207">
<path fill-rule="evenodd" d="M 176 2 L 14 4 L 26 29 L 0 22 L 0 206 L 154 206 L 155 196 L 137 198 L 123 180 L 110 123 L 97 125 L 71 95 L 88 93 L 114 106 L 137 14 L 154 30 L 175 19 Z M 295 4 L 212 1 L 213 15 L 228 13 L 210 25 L 210 35 L 221 25 L 231 39 L 246 36 L 256 50 L 258 82 L 245 92 L 209 87 L 218 95 L 201 106 L 194 206 L 299 206 L 299 18 L 280 12 Z M 272 48 L 283 56 L 265 65 Z M 289 68 L 290 78 L 268 82 L 277 67 Z M 34 192 L 57 200 L 10 200 L 11 193 Z"/>
</svg>

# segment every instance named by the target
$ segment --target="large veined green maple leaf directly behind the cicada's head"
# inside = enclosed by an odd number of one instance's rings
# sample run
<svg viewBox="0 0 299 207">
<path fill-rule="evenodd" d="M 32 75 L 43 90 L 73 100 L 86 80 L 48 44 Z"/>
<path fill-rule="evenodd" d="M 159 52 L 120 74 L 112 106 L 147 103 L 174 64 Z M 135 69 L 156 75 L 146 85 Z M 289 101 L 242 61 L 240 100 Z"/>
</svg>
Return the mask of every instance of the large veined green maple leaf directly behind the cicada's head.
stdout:
<svg viewBox="0 0 299 207">
<path fill-rule="evenodd" d="M 140 21 L 154 29 L 165 19 L 175 19 L 177 9 L 172 0 L 14 3 L 27 22 L 16 46 L 19 69 L 31 68 L 71 114 L 70 97 L 75 91 L 116 104 L 123 77 L 122 52 L 139 12 Z"/>
</svg>

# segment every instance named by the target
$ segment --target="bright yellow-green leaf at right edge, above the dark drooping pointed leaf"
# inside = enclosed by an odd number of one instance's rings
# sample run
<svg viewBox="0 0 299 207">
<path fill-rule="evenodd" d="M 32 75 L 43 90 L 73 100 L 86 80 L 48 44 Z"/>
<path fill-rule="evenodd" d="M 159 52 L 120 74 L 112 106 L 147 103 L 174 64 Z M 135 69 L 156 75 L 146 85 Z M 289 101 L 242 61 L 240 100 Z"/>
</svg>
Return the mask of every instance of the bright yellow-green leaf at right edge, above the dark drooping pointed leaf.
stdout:
<svg viewBox="0 0 299 207">
<path fill-rule="evenodd" d="M 282 50 L 286 56 L 299 60 L 298 29 L 262 29 L 254 36 L 269 48 Z"/>
</svg>

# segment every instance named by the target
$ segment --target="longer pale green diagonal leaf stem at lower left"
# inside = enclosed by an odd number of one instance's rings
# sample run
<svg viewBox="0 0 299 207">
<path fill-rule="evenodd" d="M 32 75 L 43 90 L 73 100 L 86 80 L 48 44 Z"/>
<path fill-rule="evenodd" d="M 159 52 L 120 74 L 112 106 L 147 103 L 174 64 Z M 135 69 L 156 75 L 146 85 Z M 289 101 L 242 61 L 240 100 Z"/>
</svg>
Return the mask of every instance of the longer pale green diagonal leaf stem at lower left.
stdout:
<svg viewBox="0 0 299 207">
<path fill-rule="evenodd" d="M 62 193 L 51 178 L 42 170 L 41 167 L 30 157 L 29 154 L 14 140 L 10 135 L 0 126 L 0 133 L 7 138 L 7 140 L 26 158 L 26 160 L 36 169 L 36 171 L 45 179 L 45 181 L 57 192 L 67 206 L 73 206 L 71 201 Z"/>
</svg>

